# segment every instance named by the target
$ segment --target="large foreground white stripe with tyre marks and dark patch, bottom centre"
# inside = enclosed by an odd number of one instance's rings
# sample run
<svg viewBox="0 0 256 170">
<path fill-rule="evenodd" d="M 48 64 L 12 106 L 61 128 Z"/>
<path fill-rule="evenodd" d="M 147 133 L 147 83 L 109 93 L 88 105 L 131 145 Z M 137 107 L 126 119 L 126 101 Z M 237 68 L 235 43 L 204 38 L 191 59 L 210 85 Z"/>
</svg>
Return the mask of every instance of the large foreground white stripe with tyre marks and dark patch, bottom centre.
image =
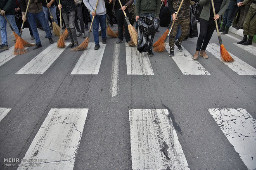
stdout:
<svg viewBox="0 0 256 170">
<path fill-rule="evenodd" d="M 131 109 L 133 170 L 189 170 L 167 109 Z"/>
</svg>

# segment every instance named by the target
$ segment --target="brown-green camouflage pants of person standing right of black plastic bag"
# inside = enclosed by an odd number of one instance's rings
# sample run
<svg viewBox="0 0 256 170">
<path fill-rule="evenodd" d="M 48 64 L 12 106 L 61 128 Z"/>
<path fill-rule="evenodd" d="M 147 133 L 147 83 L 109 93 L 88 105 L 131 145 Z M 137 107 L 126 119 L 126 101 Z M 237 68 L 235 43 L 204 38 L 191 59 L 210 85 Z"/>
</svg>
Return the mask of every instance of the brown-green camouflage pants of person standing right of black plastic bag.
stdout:
<svg viewBox="0 0 256 170">
<path fill-rule="evenodd" d="M 176 22 L 174 23 L 173 29 L 171 30 L 171 33 L 170 33 L 170 39 L 169 39 L 170 50 L 174 50 L 175 36 L 177 34 L 179 25 L 181 26 L 181 35 L 177 41 L 177 44 L 181 44 L 181 42 L 189 34 L 190 18 L 177 19 Z"/>
</svg>

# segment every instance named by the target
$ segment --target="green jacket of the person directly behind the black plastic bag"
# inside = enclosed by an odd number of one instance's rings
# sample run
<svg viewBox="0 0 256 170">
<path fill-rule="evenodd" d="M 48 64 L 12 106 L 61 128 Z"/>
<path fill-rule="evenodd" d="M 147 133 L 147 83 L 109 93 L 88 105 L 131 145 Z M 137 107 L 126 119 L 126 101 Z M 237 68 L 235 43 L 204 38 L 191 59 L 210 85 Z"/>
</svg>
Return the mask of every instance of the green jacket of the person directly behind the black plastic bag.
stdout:
<svg viewBox="0 0 256 170">
<path fill-rule="evenodd" d="M 161 0 L 136 0 L 135 14 L 139 16 L 140 13 L 156 13 L 156 17 L 159 17 L 160 7 Z"/>
</svg>

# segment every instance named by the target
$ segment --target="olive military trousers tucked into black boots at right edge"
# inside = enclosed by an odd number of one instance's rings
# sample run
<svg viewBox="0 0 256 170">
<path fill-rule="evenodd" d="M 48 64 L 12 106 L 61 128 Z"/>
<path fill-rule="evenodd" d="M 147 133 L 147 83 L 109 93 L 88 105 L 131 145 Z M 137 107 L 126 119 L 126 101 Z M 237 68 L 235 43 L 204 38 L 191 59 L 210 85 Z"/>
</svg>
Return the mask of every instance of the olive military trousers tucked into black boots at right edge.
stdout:
<svg viewBox="0 0 256 170">
<path fill-rule="evenodd" d="M 256 15 L 254 15 L 256 12 L 256 9 L 253 9 L 252 7 L 249 8 L 248 14 L 244 20 L 244 35 L 250 35 L 254 36 L 256 31 Z M 254 17 L 251 19 L 251 17 L 254 15 Z"/>
</svg>

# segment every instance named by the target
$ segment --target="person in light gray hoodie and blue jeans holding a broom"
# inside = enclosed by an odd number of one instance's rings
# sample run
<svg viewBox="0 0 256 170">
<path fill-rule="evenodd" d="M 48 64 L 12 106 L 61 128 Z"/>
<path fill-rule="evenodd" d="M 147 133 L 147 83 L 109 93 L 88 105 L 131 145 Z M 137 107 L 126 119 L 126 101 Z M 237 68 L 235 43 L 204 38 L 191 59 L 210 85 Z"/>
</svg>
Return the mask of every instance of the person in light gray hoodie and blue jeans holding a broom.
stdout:
<svg viewBox="0 0 256 170">
<path fill-rule="evenodd" d="M 105 1 L 99 0 L 97 5 L 96 12 L 95 7 L 97 0 L 83 0 L 83 3 L 90 11 L 91 19 L 94 16 L 94 21 L 92 23 L 93 27 L 93 37 L 94 37 L 94 43 L 95 43 L 95 50 L 98 50 L 100 48 L 100 41 L 99 41 L 99 23 L 101 27 L 101 38 L 102 38 L 102 44 L 106 44 L 106 34 L 107 34 L 107 11 L 105 7 Z"/>
</svg>

